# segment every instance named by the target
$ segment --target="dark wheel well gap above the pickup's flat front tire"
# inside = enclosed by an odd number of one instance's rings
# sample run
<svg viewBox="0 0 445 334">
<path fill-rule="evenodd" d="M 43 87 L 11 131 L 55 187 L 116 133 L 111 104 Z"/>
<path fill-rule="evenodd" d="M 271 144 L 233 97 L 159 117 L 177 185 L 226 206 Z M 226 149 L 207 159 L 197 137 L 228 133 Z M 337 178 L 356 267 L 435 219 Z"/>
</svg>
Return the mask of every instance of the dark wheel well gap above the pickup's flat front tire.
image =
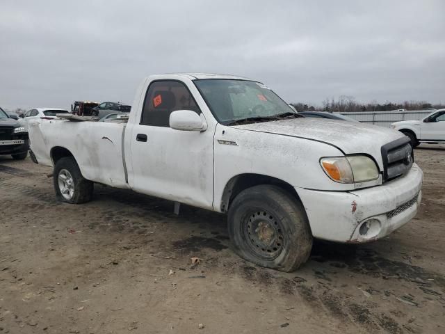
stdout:
<svg viewBox="0 0 445 334">
<path fill-rule="evenodd" d="M 232 177 L 225 185 L 223 196 L 221 197 L 220 202 L 221 212 L 229 211 L 230 204 L 238 195 L 238 193 L 241 193 L 241 191 L 252 186 L 259 186 L 260 184 L 273 184 L 275 186 L 279 186 L 280 188 L 284 189 L 292 196 L 295 196 L 298 200 L 300 200 L 300 196 L 298 196 L 296 189 L 288 182 L 269 175 L 243 173 Z"/>
</svg>

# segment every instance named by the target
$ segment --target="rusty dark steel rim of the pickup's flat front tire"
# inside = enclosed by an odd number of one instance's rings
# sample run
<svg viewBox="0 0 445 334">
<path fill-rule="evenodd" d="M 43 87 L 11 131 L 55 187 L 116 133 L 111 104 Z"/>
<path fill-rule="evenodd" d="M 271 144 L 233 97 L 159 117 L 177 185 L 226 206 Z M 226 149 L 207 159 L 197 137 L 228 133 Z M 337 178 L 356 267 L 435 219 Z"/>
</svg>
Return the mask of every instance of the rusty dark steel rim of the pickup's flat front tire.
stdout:
<svg viewBox="0 0 445 334">
<path fill-rule="evenodd" d="M 243 219 L 243 232 L 253 253 L 273 260 L 283 250 L 283 228 L 279 220 L 264 210 L 252 212 Z"/>
</svg>

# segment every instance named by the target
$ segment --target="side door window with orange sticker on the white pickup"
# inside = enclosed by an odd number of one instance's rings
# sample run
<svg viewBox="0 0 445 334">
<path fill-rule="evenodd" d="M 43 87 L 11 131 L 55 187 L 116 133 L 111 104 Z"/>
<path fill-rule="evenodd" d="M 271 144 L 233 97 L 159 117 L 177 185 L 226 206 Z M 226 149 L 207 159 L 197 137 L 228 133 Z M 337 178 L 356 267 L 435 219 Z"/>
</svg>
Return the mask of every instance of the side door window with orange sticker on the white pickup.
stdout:
<svg viewBox="0 0 445 334">
<path fill-rule="evenodd" d="M 169 127 L 170 113 L 183 109 L 201 113 L 184 84 L 179 81 L 154 81 L 145 95 L 140 125 Z"/>
</svg>

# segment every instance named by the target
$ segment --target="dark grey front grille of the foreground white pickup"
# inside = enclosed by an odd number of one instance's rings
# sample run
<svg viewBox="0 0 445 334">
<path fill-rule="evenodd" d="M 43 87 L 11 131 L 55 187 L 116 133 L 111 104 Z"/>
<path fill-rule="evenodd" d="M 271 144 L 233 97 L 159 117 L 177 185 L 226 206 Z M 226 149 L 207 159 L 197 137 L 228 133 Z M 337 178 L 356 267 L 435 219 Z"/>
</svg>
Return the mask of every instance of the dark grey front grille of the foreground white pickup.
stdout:
<svg viewBox="0 0 445 334">
<path fill-rule="evenodd" d="M 383 161 L 383 180 L 394 179 L 410 170 L 414 163 L 414 152 L 410 138 L 403 136 L 381 148 Z"/>
</svg>

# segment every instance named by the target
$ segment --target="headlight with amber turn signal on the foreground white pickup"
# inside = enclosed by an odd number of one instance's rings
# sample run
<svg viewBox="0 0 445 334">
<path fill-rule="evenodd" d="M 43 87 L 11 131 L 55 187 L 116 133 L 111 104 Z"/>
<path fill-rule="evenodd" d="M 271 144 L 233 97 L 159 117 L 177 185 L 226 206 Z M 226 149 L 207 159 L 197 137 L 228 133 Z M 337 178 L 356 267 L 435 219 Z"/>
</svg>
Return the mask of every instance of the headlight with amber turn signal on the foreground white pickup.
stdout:
<svg viewBox="0 0 445 334">
<path fill-rule="evenodd" d="M 340 183 L 359 183 L 376 180 L 378 168 L 373 159 L 364 155 L 323 158 L 321 167 L 332 180 Z"/>
</svg>

